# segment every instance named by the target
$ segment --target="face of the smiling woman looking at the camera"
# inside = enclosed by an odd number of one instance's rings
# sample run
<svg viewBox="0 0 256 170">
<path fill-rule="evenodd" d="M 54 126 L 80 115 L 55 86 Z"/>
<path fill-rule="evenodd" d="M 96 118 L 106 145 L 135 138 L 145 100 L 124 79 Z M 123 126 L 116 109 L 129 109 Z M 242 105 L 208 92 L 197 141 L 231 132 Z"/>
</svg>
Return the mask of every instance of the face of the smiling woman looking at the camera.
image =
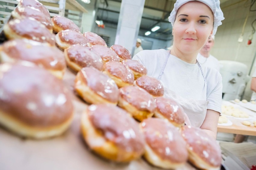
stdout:
<svg viewBox="0 0 256 170">
<path fill-rule="evenodd" d="M 213 29 L 212 10 L 199 1 L 183 4 L 173 25 L 173 44 L 184 53 L 200 51 Z"/>
</svg>

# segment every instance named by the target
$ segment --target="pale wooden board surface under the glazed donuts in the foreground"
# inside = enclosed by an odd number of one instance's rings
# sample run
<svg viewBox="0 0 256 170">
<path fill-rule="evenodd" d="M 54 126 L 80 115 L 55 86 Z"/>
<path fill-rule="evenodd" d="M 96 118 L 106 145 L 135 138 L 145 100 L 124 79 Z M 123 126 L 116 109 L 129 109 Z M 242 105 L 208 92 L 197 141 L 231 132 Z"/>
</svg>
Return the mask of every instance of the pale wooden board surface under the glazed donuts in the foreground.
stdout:
<svg viewBox="0 0 256 170">
<path fill-rule="evenodd" d="M 75 75 L 67 70 L 64 82 L 73 90 Z M 120 164 L 104 160 L 85 144 L 80 133 L 80 117 L 87 105 L 75 95 L 75 116 L 69 130 L 61 136 L 45 139 L 23 139 L 0 128 L 1 170 L 160 170 L 144 159 Z M 186 163 L 178 170 L 195 169 Z"/>
</svg>

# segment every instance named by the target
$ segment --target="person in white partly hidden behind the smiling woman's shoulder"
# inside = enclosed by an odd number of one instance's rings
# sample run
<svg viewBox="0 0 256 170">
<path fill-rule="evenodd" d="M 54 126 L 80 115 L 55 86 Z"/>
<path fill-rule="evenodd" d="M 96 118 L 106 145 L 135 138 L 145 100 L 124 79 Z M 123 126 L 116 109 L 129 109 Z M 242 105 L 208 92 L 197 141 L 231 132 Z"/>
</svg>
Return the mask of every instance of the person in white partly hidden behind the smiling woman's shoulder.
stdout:
<svg viewBox="0 0 256 170">
<path fill-rule="evenodd" d="M 218 59 L 210 54 L 210 51 L 214 45 L 214 38 L 215 37 L 213 35 L 209 40 L 207 40 L 206 44 L 198 53 L 197 60 L 203 66 L 215 68 L 218 70 L 218 72 L 220 72 L 220 64 Z"/>
</svg>

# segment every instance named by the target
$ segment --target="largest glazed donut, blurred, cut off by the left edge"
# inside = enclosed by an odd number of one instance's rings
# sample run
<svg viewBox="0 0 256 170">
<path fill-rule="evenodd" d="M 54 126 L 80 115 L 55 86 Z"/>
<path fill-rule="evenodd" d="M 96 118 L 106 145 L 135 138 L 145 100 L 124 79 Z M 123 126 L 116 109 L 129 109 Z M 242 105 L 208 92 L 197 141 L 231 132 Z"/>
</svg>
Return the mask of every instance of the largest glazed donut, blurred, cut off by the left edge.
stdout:
<svg viewBox="0 0 256 170">
<path fill-rule="evenodd" d="M 0 65 L 0 124 L 20 136 L 62 134 L 73 118 L 72 96 L 61 80 L 30 62 Z"/>
</svg>

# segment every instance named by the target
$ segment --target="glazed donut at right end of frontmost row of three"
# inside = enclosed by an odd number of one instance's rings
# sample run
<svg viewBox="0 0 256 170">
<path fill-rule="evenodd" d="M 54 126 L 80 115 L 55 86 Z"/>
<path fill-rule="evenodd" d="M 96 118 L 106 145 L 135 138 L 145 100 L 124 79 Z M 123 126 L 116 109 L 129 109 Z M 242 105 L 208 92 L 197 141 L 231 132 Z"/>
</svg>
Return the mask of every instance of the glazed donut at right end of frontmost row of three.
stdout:
<svg viewBox="0 0 256 170">
<path fill-rule="evenodd" d="M 215 139 L 200 128 L 183 126 L 181 130 L 187 142 L 190 163 L 200 169 L 220 169 L 221 149 Z"/>
</svg>

